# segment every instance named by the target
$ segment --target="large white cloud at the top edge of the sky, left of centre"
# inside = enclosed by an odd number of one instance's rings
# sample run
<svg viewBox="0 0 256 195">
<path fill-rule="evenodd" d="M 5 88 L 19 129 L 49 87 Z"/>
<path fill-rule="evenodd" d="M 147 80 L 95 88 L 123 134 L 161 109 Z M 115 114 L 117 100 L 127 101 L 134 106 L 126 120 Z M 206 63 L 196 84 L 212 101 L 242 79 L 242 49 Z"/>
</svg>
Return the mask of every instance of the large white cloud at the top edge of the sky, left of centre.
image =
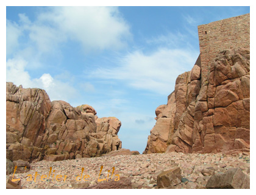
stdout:
<svg viewBox="0 0 256 195">
<path fill-rule="evenodd" d="M 78 41 L 86 51 L 119 49 L 131 37 L 116 7 L 51 7 L 38 15 L 33 28 L 30 38 L 40 45 L 62 37 Z"/>
</svg>

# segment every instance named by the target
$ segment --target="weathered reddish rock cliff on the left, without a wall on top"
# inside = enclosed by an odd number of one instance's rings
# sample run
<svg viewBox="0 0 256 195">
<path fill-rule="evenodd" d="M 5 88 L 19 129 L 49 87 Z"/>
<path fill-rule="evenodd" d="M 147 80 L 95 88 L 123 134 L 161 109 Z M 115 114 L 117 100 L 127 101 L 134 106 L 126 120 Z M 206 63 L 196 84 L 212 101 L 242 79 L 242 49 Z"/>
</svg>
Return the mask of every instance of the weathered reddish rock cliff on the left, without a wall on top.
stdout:
<svg viewBox="0 0 256 195">
<path fill-rule="evenodd" d="M 121 122 L 98 118 L 90 105 L 50 101 L 38 88 L 6 83 L 6 144 L 11 161 L 96 157 L 121 149 Z"/>
</svg>

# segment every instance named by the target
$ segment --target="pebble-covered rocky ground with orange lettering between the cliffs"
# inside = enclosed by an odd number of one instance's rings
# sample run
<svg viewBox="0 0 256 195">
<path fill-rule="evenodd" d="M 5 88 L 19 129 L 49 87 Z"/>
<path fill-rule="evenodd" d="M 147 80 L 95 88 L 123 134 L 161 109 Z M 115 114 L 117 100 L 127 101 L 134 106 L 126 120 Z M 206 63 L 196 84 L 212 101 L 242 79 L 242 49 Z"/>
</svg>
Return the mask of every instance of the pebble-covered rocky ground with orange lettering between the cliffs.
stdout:
<svg viewBox="0 0 256 195">
<path fill-rule="evenodd" d="M 101 177 L 99 172 L 102 168 Z M 45 182 L 40 180 L 43 174 L 49 175 L 50 167 L 54 171 L 54 178 L 57 175 L 66 175 L 59 180 L 52 180 L 52 172 Z M 98 179 L 106 179 L 108 170 L 109 178 L 112 175 L 112 168 L 115 167 L 112 180 L 98 182 Z M 226 172 L 229 168 L 240 168 L 244 174 L 250 176 L 250 157 L 247 154 L 141 154 L 141 155 L 116 155 L 114 157 L 102 156 L 96 158 L 79 158 L 63 161 L 38 161 L 30 164 L 30 171 L 16 174 L 21 179 L 22 188 L 158 188 L 157 176 L 162 171 L 179 167 L 182 179 L 169 188 L 205 188 L 209 178 L 219 172 Z M 82 180 L 85 175 L 90 178 L 88 182 L 76 181 L 84 168 Z M 40 176 L 35 179 L 35 172 Z M 32 181 L 27 181 L 32 175 Z M 114 181 L 115 179 L 119 181 Z M 11 175 L 9 175 L 11 176 Z M 6 176 L 6 177 L 9 177 Z M 80 177 L 79 177 L 80 178 Z M 79 179 L 78 178 L 78 179 Z"/>
</svg>

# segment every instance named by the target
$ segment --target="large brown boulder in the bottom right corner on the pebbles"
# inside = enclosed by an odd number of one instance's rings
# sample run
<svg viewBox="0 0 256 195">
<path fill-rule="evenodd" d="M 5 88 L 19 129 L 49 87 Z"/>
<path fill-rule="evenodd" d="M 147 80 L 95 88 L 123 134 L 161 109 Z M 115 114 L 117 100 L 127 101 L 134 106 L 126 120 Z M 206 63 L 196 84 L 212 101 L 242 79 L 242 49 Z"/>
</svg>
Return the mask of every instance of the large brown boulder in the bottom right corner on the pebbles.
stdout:
<svg viewBox="0 0 256 195">
<path fill-rule="evenodd" d="M 240 168 L 230 168 L 225 173 L 215 174 L 208 180 L 206 188 L 250 189 L 250 177 Z"/>
</svg>

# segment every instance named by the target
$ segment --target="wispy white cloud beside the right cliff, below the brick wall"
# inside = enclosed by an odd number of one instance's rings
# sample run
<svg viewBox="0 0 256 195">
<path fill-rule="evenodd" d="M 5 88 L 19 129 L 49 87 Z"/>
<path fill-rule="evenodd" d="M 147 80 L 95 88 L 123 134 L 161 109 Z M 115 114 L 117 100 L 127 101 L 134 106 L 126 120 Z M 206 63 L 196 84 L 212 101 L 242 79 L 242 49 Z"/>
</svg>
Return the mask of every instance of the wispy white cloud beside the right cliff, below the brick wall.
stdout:
<svg viewBox="0 0 256 195">
<path fill-rule="evenodd" d="M 182 49 L 161 48 L 148 55 L 135 51 L 123 57 L 119 66 L 98 68 L 91 76 L 121 80 L 138 90 L 169 94 L 177 76 L 190 70 L 198 55 Z"/>
</svg>

